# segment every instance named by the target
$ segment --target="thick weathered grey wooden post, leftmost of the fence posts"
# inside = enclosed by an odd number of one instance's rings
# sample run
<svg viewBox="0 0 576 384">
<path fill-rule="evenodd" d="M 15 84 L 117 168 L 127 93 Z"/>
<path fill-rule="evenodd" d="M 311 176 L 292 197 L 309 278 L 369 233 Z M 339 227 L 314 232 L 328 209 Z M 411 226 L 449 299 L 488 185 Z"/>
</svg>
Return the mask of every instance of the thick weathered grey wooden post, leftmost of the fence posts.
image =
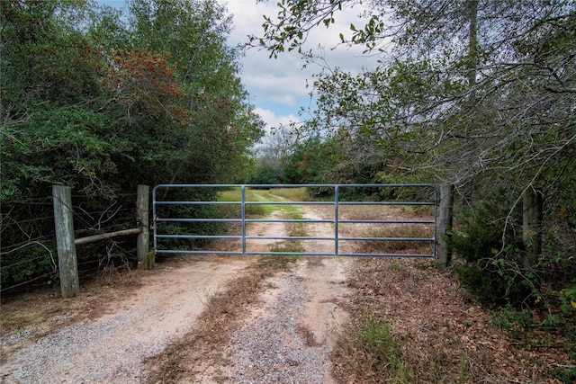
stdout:
<svg viewBox="0 0 576 384">
<path fill-rule="evenodd" d="M 80 291 L 76 246 L 74 245 L 74 219 L 72 216 L 72 193 L 70 187 L 52 185 L 54 224 L 58 248 L 58 270 L 62 296 L 73 298 Z"/>
</svg>

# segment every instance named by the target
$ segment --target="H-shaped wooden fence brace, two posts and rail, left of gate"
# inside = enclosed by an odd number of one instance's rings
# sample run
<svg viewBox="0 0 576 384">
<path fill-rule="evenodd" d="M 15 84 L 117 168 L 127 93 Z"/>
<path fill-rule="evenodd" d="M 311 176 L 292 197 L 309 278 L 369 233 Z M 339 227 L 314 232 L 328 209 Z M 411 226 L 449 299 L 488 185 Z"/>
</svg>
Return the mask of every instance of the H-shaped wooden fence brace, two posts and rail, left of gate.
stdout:
<svg viewBox="0 0 576 384">
<path fill-rule="evenodd" d="M 149 191 L 150 189 L 148 185 L 138 186 L 136 209 L 139 218 L 139 228 L 124 229 L 121 231 L 75 239 L 71 190 L 69 187 L 63 185 L 52 186 L 54 224 L 56 226 L 56 242 L 58 248 L 58 270 L 60 276 L 60 289 L 63 297 L 75 297 L 80 290 L 78 282 L 78 266 L 76 261 L 76 246 L 93 243 L 94 241 L 100 241 L 111 237 L 138 234 L 138 267 L 147 269 L 154 267 L 153 253 L 149 252 L 148 249 Z"/>
</svg>

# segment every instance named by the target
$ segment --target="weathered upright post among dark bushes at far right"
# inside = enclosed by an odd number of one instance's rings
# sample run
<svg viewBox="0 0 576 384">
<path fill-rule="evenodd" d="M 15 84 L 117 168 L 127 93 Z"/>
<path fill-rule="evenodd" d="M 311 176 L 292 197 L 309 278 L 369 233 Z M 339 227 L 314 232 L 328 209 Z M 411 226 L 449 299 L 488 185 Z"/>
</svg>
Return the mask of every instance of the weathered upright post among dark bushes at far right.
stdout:
<svg viewBox="0 0 576 384">
<path fill-rule="evenodd" d="M 542 193 L 530 187 L 522 196 L 522 241 L 526 246 L 524 266 L 538 263 L 542 248 Z"/>
</svg>

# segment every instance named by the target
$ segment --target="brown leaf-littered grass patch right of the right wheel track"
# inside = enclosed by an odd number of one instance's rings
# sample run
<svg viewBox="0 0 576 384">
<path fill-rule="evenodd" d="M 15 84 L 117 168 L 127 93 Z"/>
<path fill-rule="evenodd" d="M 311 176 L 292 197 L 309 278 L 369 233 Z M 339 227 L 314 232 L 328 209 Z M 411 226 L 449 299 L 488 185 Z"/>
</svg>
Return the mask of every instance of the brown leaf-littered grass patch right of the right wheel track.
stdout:
<svg viewBox="0 0 576 384">
<path fill-rule="evenodd" d="M 408 216 L 396 209 L 385 212 L 391 216 L 384 219 L 422 218 L 420 210 L 412 210 Z M 383 219 L 374 210 L 362 207 L 354 207 L 354 212 L 347 215 L 353 219 Z M 350 237 L 383 235 L 371 225 L 342 229 Z M 386 230 L 382 237 L 405 235 L 405 229 Z M 355 251 L 420 253 L 416 251 L 423 249 L 410 248 L 404 242 L 383 243 L 356 243 Z M 358 247 L 364 247 L 363 251 Z M 429 251 L 429 246 L 425 250 Z M 333 353 L 334 372 L 341 383 L 560 383 L 547 372 L 573 364 L 563 340 L 535 344 L 531 349 L 515 344 L 493 326 L 486 308 L 465 298 L 452 271 L 438 270 L 432 259 L 357 258 L 348 286 L 354 290 L 350 326 L 339 331 Z M 367 314 L 373 317 L 371 321 L 381 322 L 384 336 L 380 344 L 397 342 L 403 365 L 386 360 L 383 352 L 374 352 L 374 343 L 359 337 Z"/>
</svg>

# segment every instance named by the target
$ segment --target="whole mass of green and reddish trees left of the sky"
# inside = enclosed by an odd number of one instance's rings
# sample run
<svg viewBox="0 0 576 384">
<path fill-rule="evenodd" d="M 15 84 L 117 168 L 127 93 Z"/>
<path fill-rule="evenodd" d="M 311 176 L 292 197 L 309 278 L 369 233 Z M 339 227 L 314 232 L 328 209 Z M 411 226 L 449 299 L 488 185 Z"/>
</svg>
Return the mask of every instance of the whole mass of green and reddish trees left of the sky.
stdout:
<svg viewBox="0 0 576 384">
<path fill-rule="evenodd" d="M 126 3 L 2 0 L 3 265 L 41 253 L 26 240 L 50 228 L 18 223 L 49 216 L 33 199 L 52 184 L 86 211 L 131 208 L 138 184 L 228 183 L 252 161 L 264 124 L 226 44 L 226 9 Z"/>
</svg>

